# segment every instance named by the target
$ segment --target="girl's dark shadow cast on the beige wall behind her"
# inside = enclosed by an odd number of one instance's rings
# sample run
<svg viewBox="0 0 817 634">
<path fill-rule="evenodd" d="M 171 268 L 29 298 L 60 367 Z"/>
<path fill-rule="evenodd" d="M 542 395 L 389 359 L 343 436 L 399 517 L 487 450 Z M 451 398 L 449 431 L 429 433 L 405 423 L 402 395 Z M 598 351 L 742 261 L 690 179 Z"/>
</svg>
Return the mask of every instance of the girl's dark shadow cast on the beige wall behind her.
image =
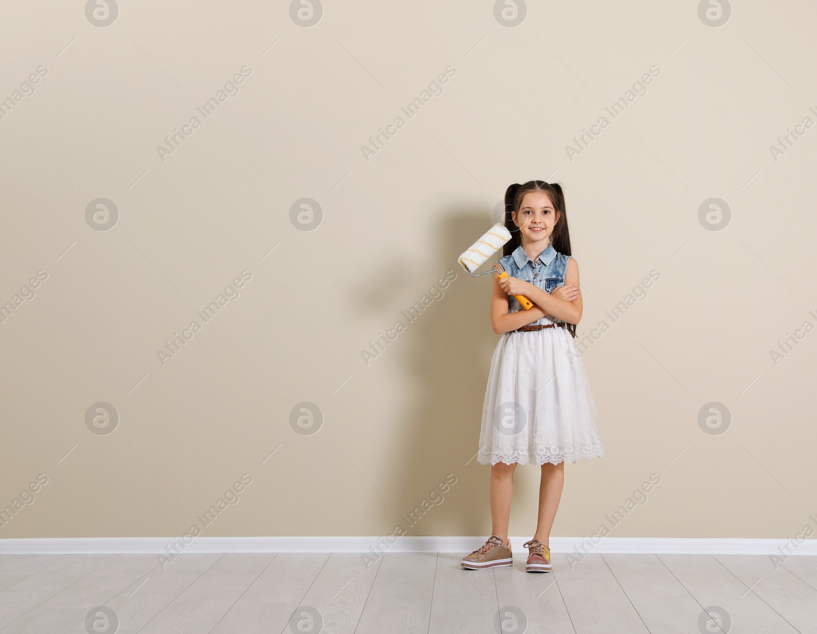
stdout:
<svg viewBox="0 0 817 634">
<path fill-rule="evenodd" d="M 439 217 L 438 258 L 431 270 L 440 277 L 453 271 L 457 277 L 401 335 L 406 337 L 401 358 L 416 397 L 400 417 L 393 448 L 402 487 L 393 512 L 409 535 L 482 535 L 490 530 L 490 467 L 478 463 L 475 454 L 500 335 L 491 330 L 489 317 L 493 276 L 471 277 L 457 259 L 496 220 L 459 209 Z M 499 257 L 501 251 L 477 273 L 489 270 Z M 517 477 L 515 493 L 525 495 L 526 488 Z"/>
</svg>

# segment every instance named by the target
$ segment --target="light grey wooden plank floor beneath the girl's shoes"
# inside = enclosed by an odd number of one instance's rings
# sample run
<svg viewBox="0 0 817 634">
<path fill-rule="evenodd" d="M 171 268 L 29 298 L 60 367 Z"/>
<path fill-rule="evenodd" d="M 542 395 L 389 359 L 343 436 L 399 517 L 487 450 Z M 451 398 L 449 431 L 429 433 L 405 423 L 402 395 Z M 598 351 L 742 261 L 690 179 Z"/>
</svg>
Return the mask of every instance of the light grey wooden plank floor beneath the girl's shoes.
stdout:
<svg viewBox="0 0 817 634">
<path fill-rule="evenodd" d="M 527 574 L 524 554 L 496 570 L 461 570 L 442 553 L 386 554 L 368 570 L 358 553 L 191 554 L 167 570 L 155 555 L 5 555 L 0 634 L 92 632 L 98 605 L 119 634 L 288 634 L 306 606 L 327 633 L 497 632 L 506 606 L 530 633 L 717 632 L 699 628 L 711 606 L 730 632 L 817 632 L 817 557 L 775 570 L 767 556 L 592 554 L 570 570 L 554 553 L 553 573 Z"/>
</svg>

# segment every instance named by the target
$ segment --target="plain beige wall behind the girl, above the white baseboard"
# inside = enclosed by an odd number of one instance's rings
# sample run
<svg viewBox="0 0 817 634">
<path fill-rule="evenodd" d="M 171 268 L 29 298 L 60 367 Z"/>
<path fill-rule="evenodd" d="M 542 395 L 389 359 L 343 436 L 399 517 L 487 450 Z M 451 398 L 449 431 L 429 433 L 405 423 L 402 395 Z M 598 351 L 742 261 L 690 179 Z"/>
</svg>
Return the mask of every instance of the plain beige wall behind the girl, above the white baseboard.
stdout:
<svg viewBox="0 0 817 634">
<path fill-rule="evenodd" d="M 0 118 L 0 303 L 47 277 L 0 324 L 0 508 L 47 483 L 0 538 L 185 534 L 242 474 L 202 534 L 390 534 L 449 474 L 412 534 L 488 534 L 489 468 L 468 461 L 498 336 L 488 278 L 457 256 L 530 179 L 565 186 L 578 335 L 610 326 L 583 355 L 605 457 L 568 465 L 553 533 L 610 527 L 651 474 L 612 536 L 815 525 L 817 334 L 770 355 L 817 324 L 817 130 L 770 151 L 817 122 L 813 3 L 734 2 L 712 27 L 695 2 L 529 2 L 515 28 L 490 2 L 325 2 L 310 28 L 287 2 L 120 0 L 107 27 L 82 4 L 2 9 L 0 99 L 47 73 Z M 442 94 L 364 158 L 447 68 Z M 197 113 L 242 69 L 238 94 Z M 100 197 L 118 209 L 105 231 L 86 220 Z M 290 220 L 302 197 L 322 209 L 314 230 Z M 712 197 L 731 212 L 717 231 L 699 221 Z M 449 271 L 367 365 L 361 351 Z M 198 317 L 242 272 L 238 297 Z M 114 432 L 87 426 L 98 401 Z M 301 401 L 322 412 L 314 435 L 290 425 Z M 699 426 L 711 401 L 724 433 Z M 532 534 L 538 468 L 517 473 L 511 534 Z"/>
</svg>

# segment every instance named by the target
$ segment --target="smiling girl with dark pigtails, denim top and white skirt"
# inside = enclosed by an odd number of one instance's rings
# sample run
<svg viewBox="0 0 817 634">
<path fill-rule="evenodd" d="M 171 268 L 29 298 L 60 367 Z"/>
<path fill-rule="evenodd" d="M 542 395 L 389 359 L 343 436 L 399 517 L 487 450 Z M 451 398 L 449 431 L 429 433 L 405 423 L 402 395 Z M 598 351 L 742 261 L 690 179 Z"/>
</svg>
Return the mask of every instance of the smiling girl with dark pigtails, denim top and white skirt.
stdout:
<svg viewBox="0 0 817 634">
<path fill-rule="evenodd" d="M 491 326 L 502 334 L 491 359 L 477 460 L 491 463 L 491 532 L 462 558 L 482 570 L 512 565 L 508 541 L 513 472 L 542 467 L 534 538 L 525 570 L 550 572 L 550 534 L 565 483 L 564 463 L 604 456 L 598 414 L 574 337 L 582 318 L 578 264 L 570 257 L 565 196 L 559 184 L 531 180 L 505 193 L 511 240 L 495 268 Z M 510 214 L 508 213 L 510 212 Z M 565 282 L 569 282 L 565 285 Z M 534 303 L 525 310 L 514 295 Z"/>
</svg>

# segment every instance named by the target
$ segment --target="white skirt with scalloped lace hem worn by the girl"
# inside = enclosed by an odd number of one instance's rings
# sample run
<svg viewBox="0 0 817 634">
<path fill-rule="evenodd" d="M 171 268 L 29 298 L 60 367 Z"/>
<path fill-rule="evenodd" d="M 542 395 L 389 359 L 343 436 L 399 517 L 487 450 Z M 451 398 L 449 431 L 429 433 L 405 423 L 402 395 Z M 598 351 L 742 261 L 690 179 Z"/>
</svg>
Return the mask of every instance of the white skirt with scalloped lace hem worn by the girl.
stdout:
<svg viewBox="0 0 817 634">
<path fill-rule="evenodd" d="M 504 333 L 491 359 L 477 460 L 558 464 L 604 454 L 596 404 L 567 328 Z"/>
</svg>

